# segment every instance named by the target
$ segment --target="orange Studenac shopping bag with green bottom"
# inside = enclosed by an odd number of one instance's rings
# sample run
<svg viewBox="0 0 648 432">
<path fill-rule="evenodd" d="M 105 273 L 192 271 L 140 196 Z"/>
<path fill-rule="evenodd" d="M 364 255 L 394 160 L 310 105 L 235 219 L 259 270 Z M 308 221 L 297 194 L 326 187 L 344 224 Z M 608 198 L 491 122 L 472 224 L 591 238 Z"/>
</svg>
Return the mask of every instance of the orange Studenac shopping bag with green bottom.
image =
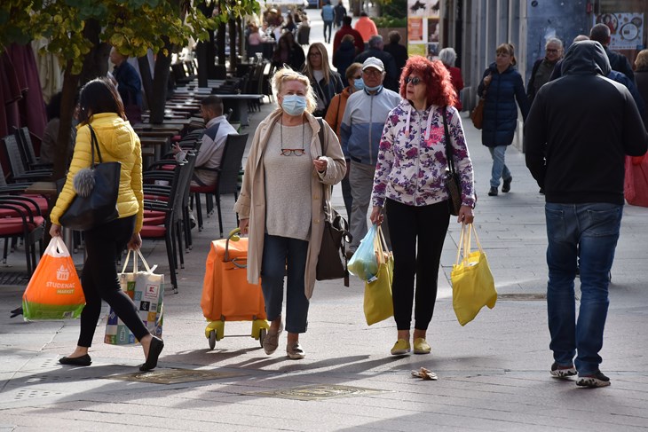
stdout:
<svg viewBox="0 0 648 432">
<path fill-rule="evenodd" d="M 23 317 L 36 319 L 78 318 L 85 297 L 75 263 L 60 237 L 52 237 L 22 295 Z"/>
</svg>

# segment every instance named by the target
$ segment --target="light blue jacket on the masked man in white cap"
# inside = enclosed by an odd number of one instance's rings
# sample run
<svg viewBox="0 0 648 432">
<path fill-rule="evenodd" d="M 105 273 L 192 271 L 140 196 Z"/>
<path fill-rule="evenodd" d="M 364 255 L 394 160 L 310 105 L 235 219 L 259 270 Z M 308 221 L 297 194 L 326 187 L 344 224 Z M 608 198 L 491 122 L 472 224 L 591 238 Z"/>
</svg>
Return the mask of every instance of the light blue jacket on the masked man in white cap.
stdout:
<svg viewBox="0 0 648 432">
<path fill-rule="evenodd" d="M 345 159 L 375 165 L 387 114 L 399 103 L 400 95 L 385 88 L 373 95 L 363 90 L 349 96 L 340 125 Z"/>
</svg>

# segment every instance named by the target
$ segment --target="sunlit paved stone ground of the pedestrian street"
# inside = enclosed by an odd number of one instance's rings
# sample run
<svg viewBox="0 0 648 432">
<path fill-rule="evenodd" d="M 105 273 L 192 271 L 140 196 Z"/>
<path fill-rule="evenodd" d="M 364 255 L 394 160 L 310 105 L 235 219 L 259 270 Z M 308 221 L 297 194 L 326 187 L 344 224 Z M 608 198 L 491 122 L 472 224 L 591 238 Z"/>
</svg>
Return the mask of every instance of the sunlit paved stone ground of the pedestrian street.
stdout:
<svg viewBox="0 0 648 432">
<path fill-rule="evenodd" d="M 245 131 L 252 134 L 270 110 L 265 104 L 261 113 L 251 114 Z M 490 156 L 478 131 L 464 120 L 479 193 L 475 224 L 501 297 L 467 326 L 457 323 L 449 276 L 459 224 L 451 224 L 428 332 L 430 355 L 390 355 L 395 325 L 391 319 L 366 325 L 363 285 L 356 278 L 351 287 L 318 282 L 308 333 L 301 338 L 303 360 L 285 357 L 285 335 L 273 356 L 249 336 L 227 337 L 209 350 L 200 299 L 209 241 L 217 236 L 217 218 L 211 216 L 204 231 L 193 232 L 194 249 L 178 272 L 179 294 L 166 292 L 166 346 L 159 368 L 148 375 L 160 379 L 177 373 L 180 382 L 115 379 L 136 374 L 143 355 L 137 347 L 105 345 L 104 320 L 91 348 L 91 367 L 59 365 L 59 357 L 75 346 L 78 322 L 9 318 L 24 287 L 0 287 L 0 430 L 648 429 L 648 208 L 624 209 L 612 268 L 601 352 L 612 386 L 579 389 L 573 379 L 552 379 L 542 299 L 547 279 L 543 197 L 524 154 L 512 146 L 507 152 L 511 192 L 488 197 Z M 344 209 L 339 187 L 334 202 Z M 225 196 L 225 230 L 235 224 L 232 208 L 233 196 Z M 168 272 L 163 242 L 146 241 L 143 252 L 149 263 Z M 81 255 L 75 255 L 77 262 Z M 22 261 L 18 251 L 8 265 L 20 269 Z M 249 322 L 228 323 L 225 334 L 249 334 L 249 329 Z M 412 378 L 410 371 L 422 366 L 439 380 Z M 199 374 L 200 381 L 187 381 L 187 371 Z"/>
</svg>

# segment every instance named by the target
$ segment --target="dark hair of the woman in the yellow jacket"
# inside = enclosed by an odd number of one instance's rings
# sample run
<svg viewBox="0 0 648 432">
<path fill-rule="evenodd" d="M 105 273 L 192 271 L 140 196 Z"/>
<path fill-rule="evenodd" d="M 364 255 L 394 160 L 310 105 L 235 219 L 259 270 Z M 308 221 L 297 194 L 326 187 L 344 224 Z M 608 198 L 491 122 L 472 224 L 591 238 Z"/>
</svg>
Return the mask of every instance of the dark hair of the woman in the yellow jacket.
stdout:
<svg viewBox="0 0 648 432">
<path fill-rule="evenodd" d="M 100 113 L 115 113 L 126 120 L 122 98 L 115 84 L 105 76 L 85 84 L 79 96 L 80 122 L 89 122 L 91 115 Z"/>
</svg>

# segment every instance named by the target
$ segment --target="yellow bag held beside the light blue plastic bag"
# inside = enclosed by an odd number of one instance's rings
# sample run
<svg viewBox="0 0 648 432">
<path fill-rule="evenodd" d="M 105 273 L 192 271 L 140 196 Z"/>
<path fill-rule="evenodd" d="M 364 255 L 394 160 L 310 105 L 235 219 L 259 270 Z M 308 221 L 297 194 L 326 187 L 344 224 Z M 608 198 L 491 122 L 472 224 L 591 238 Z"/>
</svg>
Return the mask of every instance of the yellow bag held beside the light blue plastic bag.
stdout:
<svg viewBox="0 0 648 432">
<path fill-rule="evenodd" d="M 391 302 L 394 257 L 387 249 L 380 226 L 374 237 L 374 250 L 378 260 L 378 274 L 371 282 L 365 282 L 364 310 L 369 326 L 394 315 L 394 305 Z"/>
</svg>

